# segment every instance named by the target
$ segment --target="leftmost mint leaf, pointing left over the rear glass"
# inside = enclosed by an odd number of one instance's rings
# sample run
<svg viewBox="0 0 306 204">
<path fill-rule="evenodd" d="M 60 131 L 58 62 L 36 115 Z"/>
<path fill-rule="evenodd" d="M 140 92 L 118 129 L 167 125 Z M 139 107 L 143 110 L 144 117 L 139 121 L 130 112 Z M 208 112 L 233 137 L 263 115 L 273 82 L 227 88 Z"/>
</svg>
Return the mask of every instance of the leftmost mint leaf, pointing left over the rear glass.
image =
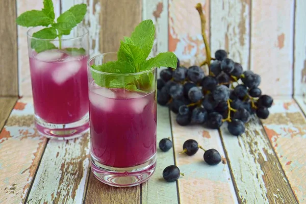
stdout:
<svg viewBox="0 0 306 204">
<path fill-rule="evenodd" d="M 16 22 L 24 27 L 36 27 L 39 25 L 48 26 L 53 23 L 53 19 L 48 17 L 43 11 L 31 10 L 18 16 Z"/>
</svg>

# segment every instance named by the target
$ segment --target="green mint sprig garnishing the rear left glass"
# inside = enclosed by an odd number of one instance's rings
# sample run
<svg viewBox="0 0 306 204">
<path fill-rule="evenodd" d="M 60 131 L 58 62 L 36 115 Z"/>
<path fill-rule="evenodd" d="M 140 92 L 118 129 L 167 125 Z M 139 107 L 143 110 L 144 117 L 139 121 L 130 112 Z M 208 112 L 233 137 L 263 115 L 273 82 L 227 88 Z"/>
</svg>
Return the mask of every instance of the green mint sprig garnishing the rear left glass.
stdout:
<svg viewBox="0 0 306 204">
<path fill-rule="evenodd" d="M 33 37 L 38 39 L 32 39 L 31 47 L 35 49 L 37 53 L 40 53 L 47 49 L 56 49 L 57 47 L 52 42 L 39 39 L 53 40 L 59 38 L 59 49 L 61 49 L 62 35 L 70 34 L 71 30 L 83 20 L 86 10 L 86 4 L 75 5 L 68 11 L 62 13 L 57 18 L 57 22 L 55 22 L 55 12 L 52 0 L 43 0 L 43 9 L 41 11 L 31 10 L 24 12 L 17 17 L 16 22 L 18 25 L 24 27 L 47 27 L 33 33 Z"/>
</svg>

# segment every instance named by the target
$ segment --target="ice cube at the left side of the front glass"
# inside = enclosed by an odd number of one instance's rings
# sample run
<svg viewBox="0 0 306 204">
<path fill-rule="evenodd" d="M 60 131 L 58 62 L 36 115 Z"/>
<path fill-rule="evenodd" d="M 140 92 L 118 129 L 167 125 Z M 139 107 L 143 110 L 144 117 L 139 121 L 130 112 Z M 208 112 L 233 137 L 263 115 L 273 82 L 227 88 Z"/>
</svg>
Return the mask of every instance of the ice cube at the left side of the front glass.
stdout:
<svg viewBox="0 0 306 204">
<path fill-rule="evenodd" d="M 90 103 L 99 109 L 111 112 L 114 107 L 115 93 L 106 88 L 93 89 L 89 91 Z"/>
</svg>

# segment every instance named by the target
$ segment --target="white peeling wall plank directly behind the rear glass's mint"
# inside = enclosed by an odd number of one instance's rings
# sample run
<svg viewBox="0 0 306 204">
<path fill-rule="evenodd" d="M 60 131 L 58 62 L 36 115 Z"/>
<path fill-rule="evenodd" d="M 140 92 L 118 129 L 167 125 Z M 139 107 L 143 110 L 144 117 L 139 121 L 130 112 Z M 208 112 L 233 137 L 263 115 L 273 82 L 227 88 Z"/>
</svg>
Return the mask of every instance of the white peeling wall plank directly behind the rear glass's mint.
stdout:
<svg viewBox="0 0 306 204">
<path fill-rule="evenodd" d="M 90 55 L 96 55 L 100 50 L 100 12 L 101 4 L 99 0 L 70 0 L 61 1 L 62 13 L 76 4 L 87 4 L 87 14 L 83 20 L 83 25 L 89 31 Z M 78 30 L 73 30 L 69 37 L 75 37 Z"/>
</svg>

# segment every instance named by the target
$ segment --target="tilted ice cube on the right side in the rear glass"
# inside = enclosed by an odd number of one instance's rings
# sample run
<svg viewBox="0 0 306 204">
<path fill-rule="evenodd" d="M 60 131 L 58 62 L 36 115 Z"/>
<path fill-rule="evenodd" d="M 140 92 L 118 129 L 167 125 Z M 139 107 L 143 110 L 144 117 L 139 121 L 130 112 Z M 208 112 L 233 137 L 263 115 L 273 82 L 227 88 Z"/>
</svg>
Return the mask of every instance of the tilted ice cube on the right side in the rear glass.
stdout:
<svg viewBox="0 0 306 204">
<path fill-rule="evenodd" d="M 52 78 L 58 85 L 61 85 L 78 73 L 81 67 L 82 64 L 79 61 L 63 62 L 60 67 L 52 72 Z"/>
</svg>

